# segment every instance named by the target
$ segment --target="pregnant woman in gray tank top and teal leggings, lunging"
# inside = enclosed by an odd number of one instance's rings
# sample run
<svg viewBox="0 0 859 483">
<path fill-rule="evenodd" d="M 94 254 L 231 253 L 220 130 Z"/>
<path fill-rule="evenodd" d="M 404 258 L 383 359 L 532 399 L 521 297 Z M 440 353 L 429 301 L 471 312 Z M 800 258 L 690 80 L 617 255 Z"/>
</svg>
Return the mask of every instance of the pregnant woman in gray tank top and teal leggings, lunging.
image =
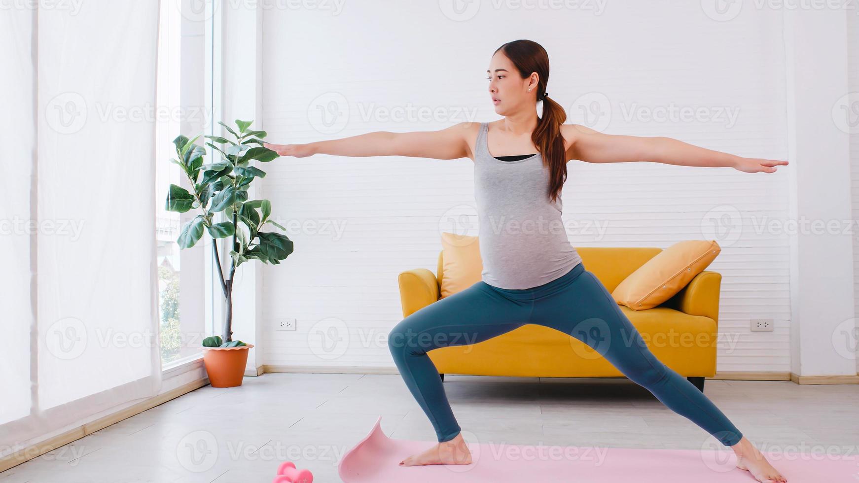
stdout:
<svg viewBox="0 0 859 483">
<path fill-rule="evenodd" d="M 560 193 L 569 160 L 649 160 L 729 166 L 742 172 L 776 172 L 776 166 L 788 162 L 741 158 L 666 137 L 611 136 L 564 124 L 564 109 L 545 90 L 548 55 L 531 40 L 499 47 L 488 73 L 495 111 L 503 116 L 492 123 L 460 123 L 435 132 L 372 132 L 308 144 L 265 144 L 282 156 L 467 157 L 474 162 L 482 280 L 405 317 L 388 336 L 400 374 L 438 438 L 434 447 L 400 465 L 472 462 L 427 352 L 446 345 L 478 343 L 535 323 L 594 347 L 668 408 L 730 446 L 737 467 L 750 471 L 758 481 L 787 481 L 710 399 L 655 358 L 606 287 L 584 268 L 564 229 L 546 224 L 563 226 L 559 223 Z M 541 118 L 535 110 L 538 102 L 543 103 Z M 504 220 L 510 225 L 505 226 Z M 542 227 L 509 229 L 514 224 L 524 226 L 525 221 Z"/>
</svg>

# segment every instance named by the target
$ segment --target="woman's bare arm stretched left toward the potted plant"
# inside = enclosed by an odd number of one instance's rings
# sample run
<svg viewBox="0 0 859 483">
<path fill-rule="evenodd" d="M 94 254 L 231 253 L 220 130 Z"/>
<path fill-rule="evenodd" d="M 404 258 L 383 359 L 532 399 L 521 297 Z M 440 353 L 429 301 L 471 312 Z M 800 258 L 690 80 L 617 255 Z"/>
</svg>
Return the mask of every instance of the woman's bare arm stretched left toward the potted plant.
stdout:
<svg viewBox="0 0 859 483">
<path fill-rule="evenodd" d="M 455 160 L 471 157 L 468 133 L 472 123 L 459 123 L 436 131 L 387 132 L 375 131 L 359 136 L 344 137 L 307 144 L 272 144 L 265 148 L 281 156 L 303 158 L 313 154 L 338 156 L 411 156 Z"/>
</svg>

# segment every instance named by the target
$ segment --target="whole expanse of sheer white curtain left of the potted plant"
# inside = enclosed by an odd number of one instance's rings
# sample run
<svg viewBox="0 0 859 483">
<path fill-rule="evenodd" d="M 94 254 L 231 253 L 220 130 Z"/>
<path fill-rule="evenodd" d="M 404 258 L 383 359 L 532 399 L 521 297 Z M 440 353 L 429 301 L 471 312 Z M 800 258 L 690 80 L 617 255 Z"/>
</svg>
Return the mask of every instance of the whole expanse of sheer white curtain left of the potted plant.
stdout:
<svg viewBox="0 0 859 483">
<path fill-rule="evenodd" d="M 0 236 L 9 335 L 0 383 L 11 389 L 3 391 L 11 404 L 0 404 L 2 448 L 156 395 L 161 386 L 153 113 L 159 4 L 13 4 L 0 16 L 0 82 L 12 112 L 0 116 L 9 154 L 0 216 L 35 230 Z"/>
</svg>

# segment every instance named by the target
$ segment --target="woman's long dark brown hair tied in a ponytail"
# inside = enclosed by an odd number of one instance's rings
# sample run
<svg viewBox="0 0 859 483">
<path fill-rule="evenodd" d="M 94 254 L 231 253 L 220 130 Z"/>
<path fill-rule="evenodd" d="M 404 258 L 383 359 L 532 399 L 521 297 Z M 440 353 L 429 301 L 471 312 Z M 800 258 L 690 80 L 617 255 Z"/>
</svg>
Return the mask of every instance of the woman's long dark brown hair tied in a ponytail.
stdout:
<svg viewBox="0 0 859 483">
<path fill-rule="evenodd" d="M 555 202 L 567 180 L 567 155 L 564 136 L 561 136 L 561 124 L 567 120 L 567 112 L 560 104 L 549 99 L 545 92 L 546 83 L 549 82 L 549 54 L 542 45 L 524 39 L 508 42 L 498 47 L 497 51 L 502 51 L 510 59 L 522 79 L 533 72 L 538 75 L 536 99 L 543 103 L 543 115 L 531 135 L 531 141 L 539 150 L 543 163 L 549 167 L 548 194 L 551 201 Z"/>
</svg>

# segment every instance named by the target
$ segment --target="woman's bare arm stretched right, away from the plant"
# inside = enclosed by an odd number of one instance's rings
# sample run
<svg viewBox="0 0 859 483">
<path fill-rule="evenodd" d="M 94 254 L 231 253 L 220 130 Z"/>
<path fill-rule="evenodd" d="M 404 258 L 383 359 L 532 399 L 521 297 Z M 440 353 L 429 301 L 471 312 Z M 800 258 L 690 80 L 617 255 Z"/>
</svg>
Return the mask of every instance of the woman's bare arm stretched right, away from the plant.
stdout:
<svg viewBox="0 0 859 483">
<path fill-rule="evenodd" d="M 565 124 L 570 147 L 568 160 L 590 163 L 654 161 L 678 166 L 733 167 L 742 172 L 776 172 L 788 161 L 743 158 L 699 148 L 670 137 L 641 137 L 603 134 L 579 124 Z"/>
</svg>

